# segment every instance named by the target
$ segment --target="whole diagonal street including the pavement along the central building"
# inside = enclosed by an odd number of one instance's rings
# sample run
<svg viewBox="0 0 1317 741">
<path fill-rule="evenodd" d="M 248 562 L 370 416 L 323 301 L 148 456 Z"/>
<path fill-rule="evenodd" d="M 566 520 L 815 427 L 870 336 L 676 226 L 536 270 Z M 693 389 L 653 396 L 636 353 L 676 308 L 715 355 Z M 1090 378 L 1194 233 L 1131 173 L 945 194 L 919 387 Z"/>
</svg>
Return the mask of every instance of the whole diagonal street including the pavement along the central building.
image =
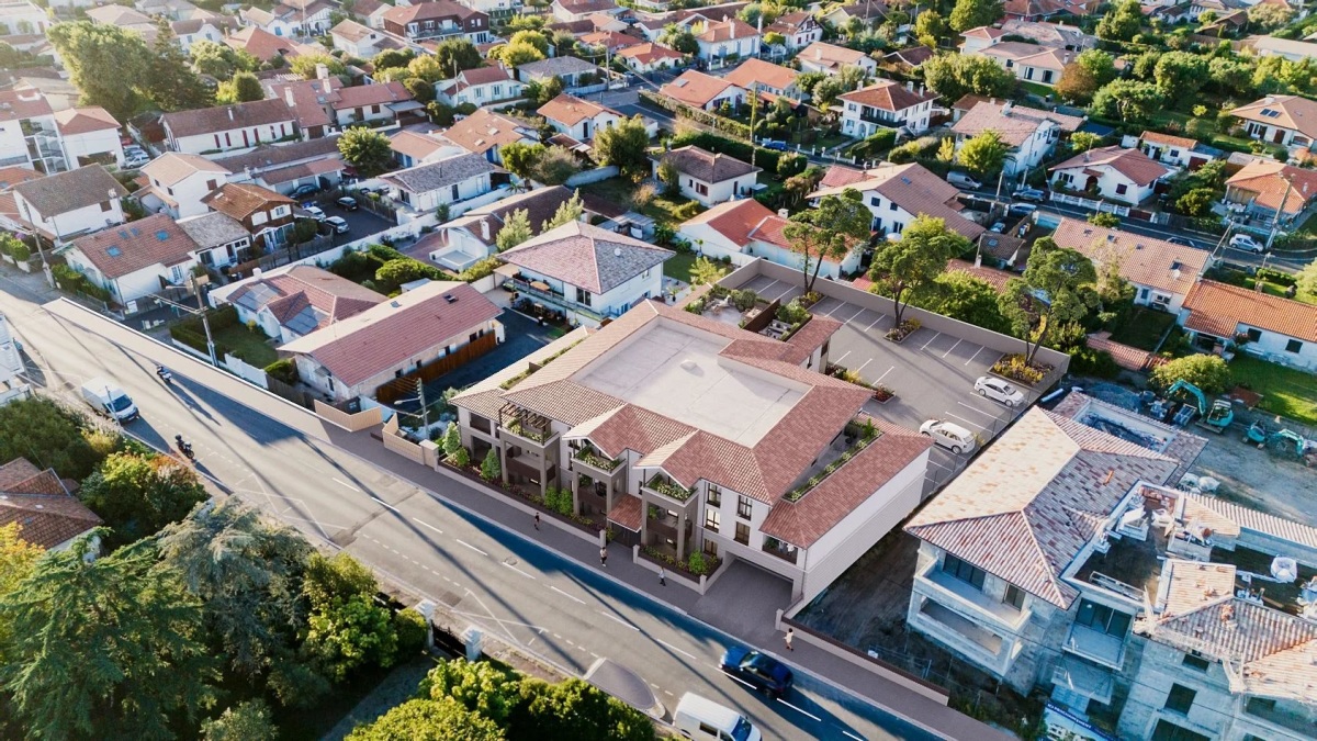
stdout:
<svg viewBox="0 0 1317 741">
<path fill-rule="evenodd" d="M 142 410 L 129 432 L 161 448 L 182 434 L 195 446 L 199 471 L 233 494 L 316 542 L 352 551 L 486 633 L 576 672 L 611 658 L 651 684 L 669 713 L 682 692 L 694 691 L 741 708 L 765 738 L 1000 737 L 799 642 L 788 657 L 797 667 L 797 690 L 785 701 L 770 701 L 718 671 L 718 657 L 732 639 L 691 617 L 738 629 L 743 639 L 782 654 L 772 614 L 755 609 L 764 605 L 719 604 L 672 583 L 660 587 L 622 547 L 611 550 L 603 572 L 595 546 L 577 534 L 548 519 L 536 531 L 516 505 L 394 456 L 367 434 L 344 432 L 70 302 L 41 307 L 55 295 L 34 290 L 30 278 L 20 285 L 4 277 L 0 287 L 0 310 L 22 339 L 34 378 L 63 386 L 70 400 L 68 385 L 96 374 L 115 378 Z M 157 380 L 155 363 L 174 370 L 173 386 Z M 660 589 L 677 608 L 645 593 Z M 940 733 L 915 728 L 810 668 Z"/>
</svg>

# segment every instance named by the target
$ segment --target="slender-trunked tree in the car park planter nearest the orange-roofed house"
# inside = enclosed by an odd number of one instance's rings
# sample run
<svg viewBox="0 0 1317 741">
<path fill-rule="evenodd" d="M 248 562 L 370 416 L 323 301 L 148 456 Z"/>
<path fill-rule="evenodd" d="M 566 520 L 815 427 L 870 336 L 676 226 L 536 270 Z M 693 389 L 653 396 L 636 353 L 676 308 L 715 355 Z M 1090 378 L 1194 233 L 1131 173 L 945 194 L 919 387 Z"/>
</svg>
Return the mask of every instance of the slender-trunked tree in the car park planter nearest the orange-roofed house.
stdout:
<svg viewBox="0 0 1317 741">
<path fill-rule="evenodd" d="M 857 244 L 869 239 L 873 215 L 864 196 L 855 189 L 840 195 L 824 195 L 817 208 L 792 216 L 782 236 L 792 252 L 801 256 L 801 278 L 805 293 L 814 293 L 814 282 L 827 260 L 839 261 Z"/>
</svg>

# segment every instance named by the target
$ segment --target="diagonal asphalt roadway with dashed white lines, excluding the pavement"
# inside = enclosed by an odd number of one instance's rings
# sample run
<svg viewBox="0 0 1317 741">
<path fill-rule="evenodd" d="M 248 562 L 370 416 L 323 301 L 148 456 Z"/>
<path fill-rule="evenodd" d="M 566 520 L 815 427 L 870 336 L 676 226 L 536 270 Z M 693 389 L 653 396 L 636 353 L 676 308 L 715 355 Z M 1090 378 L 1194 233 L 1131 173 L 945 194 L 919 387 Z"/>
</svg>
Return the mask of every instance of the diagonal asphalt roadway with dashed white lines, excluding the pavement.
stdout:
<svg viewBox="0 0 1317 741">
<path fill-rule="evenodd" d="M 740 708 L 765 738 L 934 737 L 803 672 L 785 701 L 768 700 L 718 671 L 727 639 L 707 625 L 353 458 L 317 435 L 323 423 L 309 414 L 267 400 L 259 410 L 240 405 L 203 385 L 234 388 L 205 365 L 76 307 L 59 309 L 61 318 L 20 298 L 9 281 L 0 286 L 9 289 L 0 310 L 22 339 L 34 377 L 55 389 L 66 384 L 70 400 L 83 378 L 115 378 L 142 410 L 128 426 L 133 435 L 163 450 L 182 434 L 194 443 L 199 471 L 233 494 L 346 548 L 486 633 L 578 672 L 610 658 L 655 690 L 668 717 L 677 697 L 693 691 Z M 157 361 L 174 370 L 171 388 L 155 378 Z"/>
</svg>

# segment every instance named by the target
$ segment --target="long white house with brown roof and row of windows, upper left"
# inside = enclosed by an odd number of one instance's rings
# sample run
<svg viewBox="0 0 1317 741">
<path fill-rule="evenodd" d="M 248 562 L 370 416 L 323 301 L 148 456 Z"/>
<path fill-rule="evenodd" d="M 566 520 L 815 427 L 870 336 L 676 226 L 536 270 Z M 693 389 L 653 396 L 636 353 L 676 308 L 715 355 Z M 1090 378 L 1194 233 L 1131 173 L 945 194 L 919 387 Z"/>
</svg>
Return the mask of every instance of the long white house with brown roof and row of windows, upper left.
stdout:
<svg viewBox="0 0 1317 741">
<path fill-rule="evenodd" d="M 169 149 L 184 154 L 252 149 L 298 137 L 298 123 L 283 99 L 175 111 L 161 123 Z"/>
</svg>

